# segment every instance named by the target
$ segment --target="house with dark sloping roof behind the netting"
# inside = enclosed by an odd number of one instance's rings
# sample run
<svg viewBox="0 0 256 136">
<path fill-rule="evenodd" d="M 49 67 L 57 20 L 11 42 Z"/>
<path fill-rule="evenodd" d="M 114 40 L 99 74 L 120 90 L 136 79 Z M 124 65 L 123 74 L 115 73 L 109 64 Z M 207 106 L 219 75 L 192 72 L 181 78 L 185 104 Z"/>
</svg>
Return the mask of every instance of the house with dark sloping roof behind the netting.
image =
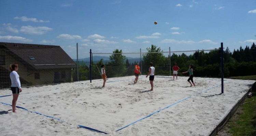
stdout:
<svg viewBox="0 0 256 136">
<path fill-rule="evenodd" d="M 19 65 L 23 87 L 74 81 L 76 63 L 60 47 L 0 42 L 0 88 L 9 88 L 10 64 Z"/>
</svg>

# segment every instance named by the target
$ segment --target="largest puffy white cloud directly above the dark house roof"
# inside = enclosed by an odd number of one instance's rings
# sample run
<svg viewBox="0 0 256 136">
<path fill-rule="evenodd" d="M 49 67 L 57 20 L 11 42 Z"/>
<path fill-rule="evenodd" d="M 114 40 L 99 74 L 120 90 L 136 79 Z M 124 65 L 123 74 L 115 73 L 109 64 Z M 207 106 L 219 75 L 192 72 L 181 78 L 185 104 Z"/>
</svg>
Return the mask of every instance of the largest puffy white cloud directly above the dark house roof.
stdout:
<svg viewBox="0 0 256 136">
<path fill-rule="evenodd" d="M 37 35 L 42 35 L 47 33 L 47 31 L 52 30 L 52 28 L 48 27 L 32 27 L 32 26 L 22 26 L 20 28 L 20 32 L 25 33 L 25 34 L 37 34 Z"/>
</svg>

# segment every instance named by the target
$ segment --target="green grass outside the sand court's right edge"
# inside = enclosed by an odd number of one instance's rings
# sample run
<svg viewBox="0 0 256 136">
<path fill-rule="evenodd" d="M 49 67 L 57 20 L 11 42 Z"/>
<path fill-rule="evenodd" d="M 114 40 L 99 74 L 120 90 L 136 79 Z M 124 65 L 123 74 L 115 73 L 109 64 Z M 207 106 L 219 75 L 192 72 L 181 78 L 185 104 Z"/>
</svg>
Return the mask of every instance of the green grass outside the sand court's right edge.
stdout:
<svg viewBox="0 0 256 136">
<path fill-rule="evenodd" d="M 231 79 L 256 80 L 256 75 Z M 243 103 L 219 132 L 219 136 L 256 136 L 256 93 L 251 98 L 246 98 Z"/>
</svg>

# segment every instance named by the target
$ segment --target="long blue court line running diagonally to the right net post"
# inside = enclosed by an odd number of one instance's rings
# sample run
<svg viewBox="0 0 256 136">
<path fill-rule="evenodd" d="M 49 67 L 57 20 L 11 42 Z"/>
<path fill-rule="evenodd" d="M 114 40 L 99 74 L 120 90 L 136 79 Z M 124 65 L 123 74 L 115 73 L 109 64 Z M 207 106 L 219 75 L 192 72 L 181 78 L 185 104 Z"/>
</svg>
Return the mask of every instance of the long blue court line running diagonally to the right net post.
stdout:
<svg viewBox="0 0 256 136">
<path fill-rule="evenodd" d="M 221 85 L 221 84 L 220 84 L 220 85 Z M 216 86 L 214 86 L 214 87 L 212 87 L 212 88 L 208 88 L 208 89 L 206 89 L 206 90 L 203 90 L 203 91 L 201 91 L 201 92 L 198 92 L 198 93 L 195 94 L 195 95 L 198 95 L 198 94 L 200 94 L 200 93 L 202 93 L 202 92 L 205 92 L 205 91 L 208 91 L 208 90 L 213 89 L 213 88 L 215 88 L 215 87 L 218 87 L 218 86 L 220 86 L 220 85 L 216 85 Z M 132 125 L 132 124 L 134 124 L 134 123 L 136 123 L 136 122 L 138 122 L 138 121 L 141 121 L 141 120 L 143 120 L 143 119 L 145 119 L 145 118 L 147 118 L 147 117 L 150 117 L 150 116 L 152 116 L 152 115 L 154 115 L 154 114 L 156 114 L 156 113 L 158 113 L 158 112 L 160 112 L 160 111 L 162 111 L 162 110 L 164 110 L 164 109 L 166 109 L 166 108 L 169 108 L 169 107 L 171 107 L 171 106 L 173 106 L 173 105 L 175 105 L 175 104 L 177 104 L 177 103 L 180 103 L 180 102 L 182 102 L 182 101 L 185 101 L 185 100 L 187 100 L 188 98 L 190 98 L 190 97 L 192 97 L 192 96 L 195 96 L 195 95 L 191 95 L 191 96 L 189 96 L 189 97 L 187 97 L 187 98 L 185 98 L 185 99 L 182 99 L 182 100 L 180 100 L 180 101 L 177 101 L 177 102 L 175 102 L 175 103 L 173 103 L 173 104 L 171 104 L 171 105 L 169 105 L 169 106 L 167 106 L 167 107 L 165 107 L 165 108 L 160 109 L 159 111 L 156 111 L 156 112 L 154 112 L 154 113 L 152 113 L 152 114 L 150 114 L 150 115 L 147 115 L 146 117 L 143 117 L 143 118 L 141 118 L 141 119 L 139 119 L 139 120 L 137 120 L 137 121 L 135 121 L 135 122 L 132 122 L 132 123 L 126 125 L 126 126 L 123 126 L 122 128 L 120 128 L 120 129 L 118 129 L 118 130 L 116 130 L 116 131 L 122 130 L 122 129 L 126 128 L 126 127 L 129 126 L 129 125 Z M 116 131 L 115 131 L 115 132 L 116 132 Z"/>
</svg>

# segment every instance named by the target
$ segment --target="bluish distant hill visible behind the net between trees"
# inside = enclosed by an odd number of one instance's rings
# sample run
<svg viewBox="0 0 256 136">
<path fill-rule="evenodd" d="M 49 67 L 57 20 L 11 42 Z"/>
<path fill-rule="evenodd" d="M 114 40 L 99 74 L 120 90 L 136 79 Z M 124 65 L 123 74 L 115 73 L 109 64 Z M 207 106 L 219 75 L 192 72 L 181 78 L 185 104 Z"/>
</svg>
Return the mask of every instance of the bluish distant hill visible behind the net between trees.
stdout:
<svg viewBox="0 0 256 136">
<path fill-rule="evenodd" d="M 103 63 L 108 63 L 110 62 L 110 57 L 108 56 L 93 56 L 93 62 L 97 63 L 101 60 L 101 58 L 103 58 Z M 134 62 L 140 62 L 140 58 L 133 58 L 133 57 L 126 57 L 129 61 L 129 63 L 134 63 Z M 143 58 L 141 58 L 143 60 Z M 74 61 L 76 61 L 76 59 L 73 59 Z M 90 57 L 86 57 L 86 58 L 79 58 L 78 59 L 79 62 L 87 62 L 89 64 L 90 62 Z"/>
</svg>

